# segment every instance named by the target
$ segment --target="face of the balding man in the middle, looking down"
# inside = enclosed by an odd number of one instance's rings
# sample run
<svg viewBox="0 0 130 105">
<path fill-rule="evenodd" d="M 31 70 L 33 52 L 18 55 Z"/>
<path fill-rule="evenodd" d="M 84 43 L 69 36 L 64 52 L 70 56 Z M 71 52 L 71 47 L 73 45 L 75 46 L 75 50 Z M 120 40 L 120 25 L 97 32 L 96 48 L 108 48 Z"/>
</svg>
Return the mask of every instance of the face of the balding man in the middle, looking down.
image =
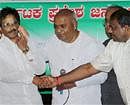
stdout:
<svg viewBox="0 0 130 105">
<path fill-rule="evenodd" d="M 71 17 L 65 15 L 55 17 L 54 29 L 58 39 L 68 43 L 73 38 L 75 31 L 74 23 L 72 22 Z"/>
</svg>

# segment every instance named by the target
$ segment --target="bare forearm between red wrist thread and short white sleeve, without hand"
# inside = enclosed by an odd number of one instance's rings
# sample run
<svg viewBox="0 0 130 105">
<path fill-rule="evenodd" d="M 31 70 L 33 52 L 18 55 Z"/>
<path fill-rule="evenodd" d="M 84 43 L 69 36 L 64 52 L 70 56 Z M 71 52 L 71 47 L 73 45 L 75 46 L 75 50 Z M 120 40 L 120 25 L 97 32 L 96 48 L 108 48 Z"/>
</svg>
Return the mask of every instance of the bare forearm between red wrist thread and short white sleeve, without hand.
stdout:
<svg viewBox="0 0 130 105">
<path fill-rule="evenodd" d="M 90 63 L 88 64 L 83 64 L 75 69 L 73 69 L 71 72 L 60 76 L 60 82 L 61 84 L 67 83 L 67 82 L 75 82 L 87 77 L 90 77 L 96 73 L 97 71 Z"/>
</svg>

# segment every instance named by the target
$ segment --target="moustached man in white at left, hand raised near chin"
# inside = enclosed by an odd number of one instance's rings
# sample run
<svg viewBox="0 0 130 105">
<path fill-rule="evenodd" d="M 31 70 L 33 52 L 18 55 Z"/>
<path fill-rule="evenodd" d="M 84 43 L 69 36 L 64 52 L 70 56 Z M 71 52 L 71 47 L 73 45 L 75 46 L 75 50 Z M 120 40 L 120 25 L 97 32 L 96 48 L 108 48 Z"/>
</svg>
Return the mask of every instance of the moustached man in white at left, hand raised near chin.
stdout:
<svg viewBox="0 0 130 105">
<path fill-rule="evenodd" d="M 42 105 L 34 77 L 43 72 L 35 44 L 19 26 L 14 8 L 0 11 L 0 105 Z"/>
</svg>

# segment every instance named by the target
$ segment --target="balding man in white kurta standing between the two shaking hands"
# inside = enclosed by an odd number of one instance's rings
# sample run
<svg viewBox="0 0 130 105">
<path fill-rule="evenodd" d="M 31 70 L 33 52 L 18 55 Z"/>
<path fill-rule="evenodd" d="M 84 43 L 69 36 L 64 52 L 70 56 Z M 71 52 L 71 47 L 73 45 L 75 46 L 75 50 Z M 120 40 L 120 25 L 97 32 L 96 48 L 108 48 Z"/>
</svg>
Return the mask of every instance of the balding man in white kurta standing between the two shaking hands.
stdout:
<svg viewBox="0 0 130 105">
<path fill-rule="evenodd" d="M 47 41 L 43 50 L 52 76 L 64 75 L 90 62 L 104 49 L 101 43 L 77 29 L 75 13 L 69 9 L 61 9 L 56 14 L 54 28 L 56 35 Z M 101 72 L 82 81 L 58 86 L 52 92 L 52 105 L 101 105 L 100 84 L 106 79 L 107 74 Z"/>
</svg>

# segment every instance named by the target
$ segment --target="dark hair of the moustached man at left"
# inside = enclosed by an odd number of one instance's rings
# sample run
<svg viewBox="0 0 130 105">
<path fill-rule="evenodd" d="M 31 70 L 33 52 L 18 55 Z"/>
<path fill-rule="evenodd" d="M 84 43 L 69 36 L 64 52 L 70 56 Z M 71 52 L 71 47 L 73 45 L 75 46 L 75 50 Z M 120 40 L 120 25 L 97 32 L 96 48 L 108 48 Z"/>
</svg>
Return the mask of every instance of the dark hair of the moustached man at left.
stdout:
<svg viewBox="0 0 130 105">
<path fill-rule="evenodd" d="M 15 8 L 5 7 L 0 11 L 0 27 L 2 26 L 2 20 L 5 19 L 7 15 L 13 15 L 20 25 L 20 16 L 17 10 Z"/>
</svg>

